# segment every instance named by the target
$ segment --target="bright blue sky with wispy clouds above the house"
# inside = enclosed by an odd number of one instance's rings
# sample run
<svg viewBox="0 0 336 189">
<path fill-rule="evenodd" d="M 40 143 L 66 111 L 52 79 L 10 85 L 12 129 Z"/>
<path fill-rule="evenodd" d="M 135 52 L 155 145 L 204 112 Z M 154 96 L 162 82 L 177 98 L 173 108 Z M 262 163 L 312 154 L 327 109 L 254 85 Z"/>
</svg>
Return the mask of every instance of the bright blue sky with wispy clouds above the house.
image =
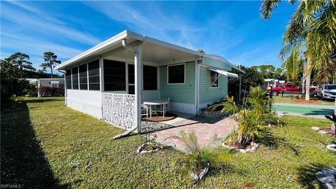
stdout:
<svg viewBox="0 0 336 189">
<path fill-rule="evenodd" d="M 234 64 L 281 66 L 281 37 L 295 6 L 281 3 L 270 20 L 261 1 L 1 1 L 1 55 L 43 52 L 65 61 L 125 29 Z"/>
</svg>

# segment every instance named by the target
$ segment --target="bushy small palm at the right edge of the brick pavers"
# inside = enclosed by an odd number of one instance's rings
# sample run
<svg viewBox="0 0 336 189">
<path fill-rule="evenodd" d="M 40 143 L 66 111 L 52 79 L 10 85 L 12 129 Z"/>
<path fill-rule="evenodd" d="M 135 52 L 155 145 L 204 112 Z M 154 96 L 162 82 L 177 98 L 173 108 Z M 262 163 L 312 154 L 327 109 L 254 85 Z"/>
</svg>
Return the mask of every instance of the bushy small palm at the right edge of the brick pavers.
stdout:
<svg viewBox="0 0 336 189">
<path fill-rule="evenodd" d="M 252 87 L 251 93 L 244 99 L 242 104 L 236 104 L 233 97 L 226 96 L 226 101 L 211 107 L 211 111 L 219 106 L 223 107 L 221 113 L 229 113 L 238 123 L 238 130 L 235 128 L 229 135 L 230 142 L 237 142 L 240 147 L 246 147 L 262 133 L 270 124 L 278 124 L 281 127 L 283 123 L 272 113 L 272 99 L 267 97 L 267 91 L 261 87 Z"/>
</svg>

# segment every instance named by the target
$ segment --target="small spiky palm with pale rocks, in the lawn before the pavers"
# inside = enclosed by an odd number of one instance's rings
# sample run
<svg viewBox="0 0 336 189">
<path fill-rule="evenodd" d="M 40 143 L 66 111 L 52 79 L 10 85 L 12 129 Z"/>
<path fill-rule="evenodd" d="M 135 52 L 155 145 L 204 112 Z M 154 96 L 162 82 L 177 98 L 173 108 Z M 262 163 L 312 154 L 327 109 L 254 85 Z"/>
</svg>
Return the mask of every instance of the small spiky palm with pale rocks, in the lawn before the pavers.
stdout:
<svg viewBox="0 0 336 189">
<path fill-rule="evenodd" d="M 175 158 L 172 166 L 182 174 L 190 174 L 194 180 L 201 180 L 209 167 L 218 168 L 223 162 L 229 162 L 230 156 L 216 156 L 208 147 L 201 147 L 198 144 L 197 136 L 193 130 L 190 132 L 180 132 L 180 136 L 175 136 L 174 139 L 179 139 L 185 144 L 187 155 L 182 155 Z"/>
</svg>

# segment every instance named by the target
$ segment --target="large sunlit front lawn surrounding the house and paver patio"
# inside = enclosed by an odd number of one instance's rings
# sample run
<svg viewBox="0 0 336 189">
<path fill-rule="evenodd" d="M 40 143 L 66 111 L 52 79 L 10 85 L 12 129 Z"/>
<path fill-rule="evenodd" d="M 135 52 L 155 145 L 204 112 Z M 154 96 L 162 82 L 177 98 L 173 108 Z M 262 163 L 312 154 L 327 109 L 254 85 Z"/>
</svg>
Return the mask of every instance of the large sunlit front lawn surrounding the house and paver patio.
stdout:
<svg viewBox="0 0 336 189">
<path fill-rule="evenodd" d="M 330 121 L 286 117 L 288 132 L 269 130 L 255 153 L 231 153 L 229 165 L 198 184 L 171 169 L 183 155 L 165 149 L 138 155 L 139 135 L 113 141 L 123 130 L 64 106 L 62 98 L 25 98 L 1 103 L 1 184 L 23 188 L 316 188 L 314 173 L 336 167 L 325 144 L 335 138 L 310 127 Z"/>
</svg>

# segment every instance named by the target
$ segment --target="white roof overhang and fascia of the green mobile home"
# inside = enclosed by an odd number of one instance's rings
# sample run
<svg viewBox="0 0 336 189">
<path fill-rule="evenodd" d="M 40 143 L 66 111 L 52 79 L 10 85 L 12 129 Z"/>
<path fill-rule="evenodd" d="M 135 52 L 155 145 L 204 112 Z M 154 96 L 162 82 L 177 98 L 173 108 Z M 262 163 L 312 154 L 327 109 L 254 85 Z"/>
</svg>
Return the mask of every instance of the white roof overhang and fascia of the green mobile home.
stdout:
<svg viewBox="0 0 336 189">
<path fill-rule="evenodd" d="M 190 57 L 208 57 L 210 59 L 216 59 L 223 62 L 223 64 L 229 64 L 232 68 L 242 71 L 237 66 L 228 62 L 228 60 L 217 55 L 207 55 L 195 50 L 190 50 L 188 48 L 183 48 L 179 45 L 174 45 L 172 43 L 167 43 L 165 41 L 160 41 L 156 38 L 151 38 L 141 34 L 134 33 L 132 31 L 125 30 L 112 38 L 100 43 L 89 50 L 73 57 L 62 64 L 59 64 L 55 69 L 68 69 L 69 67 L 78 64 L 79 62 L 84 62 L 87 59 L 98 57 L 100 55 L 106 54 L 108 52 L 113 52 L 113 56 L 119 58 L 125 58 L 125 56 L 130 56 L 130 51 L 123 48 L 122 41 L 127 40 L 127 44 L 137 45 L 144 44 L 142 48 L 144 56 L 142 56 L 143 61 L 147 62 L 171 62 L 175 59 L 186 59 Z"/>
</svg>

